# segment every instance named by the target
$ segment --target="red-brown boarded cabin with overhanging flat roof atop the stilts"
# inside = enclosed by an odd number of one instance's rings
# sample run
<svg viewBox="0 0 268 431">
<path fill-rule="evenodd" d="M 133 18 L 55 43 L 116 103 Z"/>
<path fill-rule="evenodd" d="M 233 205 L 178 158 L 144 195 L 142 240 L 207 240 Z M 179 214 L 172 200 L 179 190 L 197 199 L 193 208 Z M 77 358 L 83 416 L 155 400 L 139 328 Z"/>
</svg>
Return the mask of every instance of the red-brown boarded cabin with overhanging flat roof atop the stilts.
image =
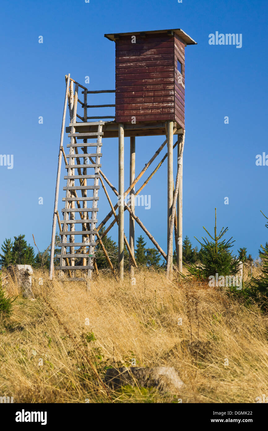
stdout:
<svg viewBox="0 0 268 431">
<path fill-rule="evenodd" d="M 181 29 L 105 34 L 115 42 L 115 121 L 185 125 L 185 46 Z"/>
</svg>

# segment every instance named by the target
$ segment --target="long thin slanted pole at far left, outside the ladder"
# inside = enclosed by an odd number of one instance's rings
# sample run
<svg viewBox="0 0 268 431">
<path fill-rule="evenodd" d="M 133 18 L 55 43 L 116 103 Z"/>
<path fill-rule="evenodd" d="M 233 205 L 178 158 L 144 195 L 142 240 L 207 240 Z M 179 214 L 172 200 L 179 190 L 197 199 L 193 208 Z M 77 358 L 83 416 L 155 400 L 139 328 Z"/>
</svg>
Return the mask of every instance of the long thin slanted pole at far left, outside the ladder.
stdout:
<svg viewBox="0 0 268 431">
<path fill-rule="evenodd" d="M 66 109 L 67 109 L 67 101 L 68 101 L 69 83 L 70 83 L 70 73 L 68 75 L 67 83 L 66 83 L 65 101 L 64 101 L 63 116 L 62 116 L 62 131 L 61 131 L 61 139 L 60 139 L 60 144 L 59 144 L 60 149 L 59 149 L 58 172 L 57 172 L 56 190 L 55 190 L 55 203 L 54 203 L 54 213 L 53 213 L 50 264 L 49 264 L 49 278 L 50 278 L 50 280 L 52 280 L 53 272 L 54 272 L 55 234 L 56 234 L 57 210 L 58 210 L 58 201 L 59 201 L 59 181 L 60 181 L 61 166 L 62 166 L 62 150 L 61 150 L 61 148 L 62 148 L 63 137 L 64 137 L 65 117 L 66 117 Z"/>
</svg>

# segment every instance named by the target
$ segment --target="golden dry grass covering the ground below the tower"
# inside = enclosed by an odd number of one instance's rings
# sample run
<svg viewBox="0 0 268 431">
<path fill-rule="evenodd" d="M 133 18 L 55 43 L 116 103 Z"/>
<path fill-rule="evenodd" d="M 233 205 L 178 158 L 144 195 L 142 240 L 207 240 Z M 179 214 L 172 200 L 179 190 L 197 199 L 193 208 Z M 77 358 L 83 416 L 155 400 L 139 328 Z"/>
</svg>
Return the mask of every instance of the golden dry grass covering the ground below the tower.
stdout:
<svg viewBox="0 0 268 431">
<path fill-rule="evenodd" d="M 87 292 L 80 282 L 35 273 L 37 299 L 18 297 L 0 321 L 0 395 L 15 403 L 254 403 L 268 394 L 268 317 L 257 306 L 161 272 L 135 276 L 132 285 L 128 276 L 118 284 L 101 274 Z M 17 295 L 18 286 L 10 281 L 7 292 Z M 177 397 L 131 387 L 107 394 L 89 362 L 102 378 L 105 367 L 132 358 L 174 366 L 185 386 Z"/>
</svg>

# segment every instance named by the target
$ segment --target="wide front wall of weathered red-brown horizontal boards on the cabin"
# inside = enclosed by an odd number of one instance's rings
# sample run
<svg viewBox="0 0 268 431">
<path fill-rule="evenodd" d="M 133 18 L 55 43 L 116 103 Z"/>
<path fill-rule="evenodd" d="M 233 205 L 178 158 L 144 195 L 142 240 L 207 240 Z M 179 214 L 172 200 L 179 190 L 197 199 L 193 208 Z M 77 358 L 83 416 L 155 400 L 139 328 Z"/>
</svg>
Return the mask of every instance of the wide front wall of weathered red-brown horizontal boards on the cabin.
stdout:
<svg viewBox="0 0 268 431">
<path fill-rule="evenodd" d="M 131 36 L 116 41 L 116 122 L 175 121 L 174 37 Z M 182 55 L 182 54 L 181 54 Z M 176 66 L 177 69 L 177 66 Z M 178 93 L 184 102 L 184 93 Z M 184 111 L 178 111 L 182 122 Z"/>
</svg>

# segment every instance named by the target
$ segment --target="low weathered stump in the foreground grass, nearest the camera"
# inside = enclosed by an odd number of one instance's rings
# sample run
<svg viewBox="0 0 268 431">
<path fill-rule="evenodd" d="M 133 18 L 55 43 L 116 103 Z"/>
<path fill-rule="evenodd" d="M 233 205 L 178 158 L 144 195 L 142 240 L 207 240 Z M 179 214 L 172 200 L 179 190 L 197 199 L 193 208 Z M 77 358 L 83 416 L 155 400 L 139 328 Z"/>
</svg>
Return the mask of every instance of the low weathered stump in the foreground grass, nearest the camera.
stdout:
<svg viewBox="0 0 268 431">
<path fill-rule="evenodd" d="M 170 394 L 178 394 L 184 384 L 174 367 L 109 368 L 104 380 L 112 389 L 129 384 L 132 387 L 156 387 Z"/>
</svg>

